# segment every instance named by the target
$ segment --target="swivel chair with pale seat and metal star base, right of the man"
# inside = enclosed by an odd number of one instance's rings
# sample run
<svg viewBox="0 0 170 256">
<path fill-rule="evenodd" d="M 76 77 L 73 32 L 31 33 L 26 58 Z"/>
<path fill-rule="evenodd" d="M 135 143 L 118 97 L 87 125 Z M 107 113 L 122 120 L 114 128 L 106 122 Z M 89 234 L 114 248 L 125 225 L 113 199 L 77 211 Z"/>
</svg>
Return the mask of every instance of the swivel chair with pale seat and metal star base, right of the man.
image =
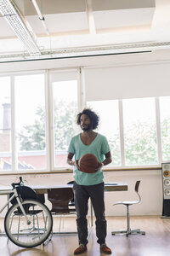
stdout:
<svg viewBox="0 0 170 256">
<path fill-rule="evenodd" d="M 129 216 L 129 206 L 132 206 L 134 204 L 139 204 L 139 202 L 141 201 L 141 197 L 139 195 L 139 183 L 140 180 L 138 180 L 135 184 L 135 192 L 137 193 L 137 195 L 139 196 L 139 200 L 137 201 L 116 201 L 115 205 L 124 205 L 127 207 L 127 230 L 120 230 L 120 231 L 112 231 L 111 235 L 123 235 L 125 234 L 126 236 L 128 235 L 145 235 L 144 231 L 140 231 L 138 230 L 131 230 L 130 229 L 130 216 Z"/>
</svg>

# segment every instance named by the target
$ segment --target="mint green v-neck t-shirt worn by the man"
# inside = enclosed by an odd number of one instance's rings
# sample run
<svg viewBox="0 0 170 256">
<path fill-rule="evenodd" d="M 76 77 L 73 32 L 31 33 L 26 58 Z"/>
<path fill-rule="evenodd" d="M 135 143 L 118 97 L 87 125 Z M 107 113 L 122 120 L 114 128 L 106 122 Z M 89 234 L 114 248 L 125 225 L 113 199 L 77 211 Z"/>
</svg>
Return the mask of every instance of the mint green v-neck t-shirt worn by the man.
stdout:
<svg viewBox="0 0 170 256">
<path fill-rule="evenodd" d="M 82 143 L 80 134 L 72 137 L 68 149 L 68 152 L 75 155 L 75 160 L 80 159 L 83 154 L 94 154 L 99 162 L 104 160 L 104 155 L 109 151 L 111 149 L 106 137 L 99 133 L 89 145 Z M 78 171 L 77 167 L 74 166 L 73 177 L 79 185 L 95 185 L 103 182 L 104 175 L 101 169 L 95 173 L 85 173 Z"/>
</svg>

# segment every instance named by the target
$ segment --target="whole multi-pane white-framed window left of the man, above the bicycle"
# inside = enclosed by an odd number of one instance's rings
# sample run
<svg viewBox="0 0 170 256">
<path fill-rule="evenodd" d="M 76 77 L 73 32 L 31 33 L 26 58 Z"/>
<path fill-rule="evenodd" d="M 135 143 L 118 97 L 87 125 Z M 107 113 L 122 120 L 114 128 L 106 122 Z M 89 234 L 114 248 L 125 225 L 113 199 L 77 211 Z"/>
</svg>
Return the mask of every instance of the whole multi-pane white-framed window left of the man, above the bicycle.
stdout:
<svg viewBox="0 0 170 256">
<path fill-rule="evenodd" d="M 78 133 L 77 70 L 52 72 L 49 78 L 51 87 L 45 73 L 0 77 L 0 170 L 67 166 L 68 145 Z"/>
</svg>

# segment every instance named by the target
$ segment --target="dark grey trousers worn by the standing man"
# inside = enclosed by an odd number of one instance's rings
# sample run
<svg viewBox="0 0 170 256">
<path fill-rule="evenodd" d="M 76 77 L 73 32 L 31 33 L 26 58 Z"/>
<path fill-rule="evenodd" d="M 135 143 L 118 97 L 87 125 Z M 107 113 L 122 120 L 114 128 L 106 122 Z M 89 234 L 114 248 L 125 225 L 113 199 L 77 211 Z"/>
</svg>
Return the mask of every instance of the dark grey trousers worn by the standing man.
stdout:
<svg viewBox="0 0 170 256">
<path fill-rule="evenodd" d="M 77 209 L 77 231 L 79 244 L 88 243 L 88 199 L 92 201 L 95 214 L 96 236 L 98 243 L 105 243 L 106 220 L 105 220 L 105 202 L 104 202 L 104 183 L 97 185 L 78 185 L 74 183 L 75 205 Z"/>
</svg>

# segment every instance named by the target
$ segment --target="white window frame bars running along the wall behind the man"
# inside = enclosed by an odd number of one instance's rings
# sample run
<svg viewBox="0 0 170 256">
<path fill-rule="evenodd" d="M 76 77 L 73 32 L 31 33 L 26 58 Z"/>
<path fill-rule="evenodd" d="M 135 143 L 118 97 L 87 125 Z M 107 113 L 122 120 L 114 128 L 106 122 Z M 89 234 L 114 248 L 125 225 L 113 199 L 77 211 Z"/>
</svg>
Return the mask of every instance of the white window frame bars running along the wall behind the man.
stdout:
<svg viewBox="0 0 170 256">
<path fill-rule="evenodd" d="M 37 71 L 22 71 L 22 72 L 13 72 L 13 73 L 3 73 L 0 74 L 0 77 L 10 77 L 10 101 L 11 101 L 11 160 L 12 166 L 11 171 L 2 171 L 0 174 L 19 174 L 19 173 L 32 173 L 32 170 L 26 171 L 16 171 L 17 163 L 17 151 L 16 151 L 16 142 L 15 142 L 15 108 L 14 108 L 14 77 L 17 75 L 31 75 L 31 74 L 44 74 L 44 90 L 45 90 L 45 111 L 46 111 L 46 169 L 43 170 L 33 170 L 34 173 L 43 173 L 43 172 L 71 172 L 72 167 L 68 169 L 65 167 L 55 167 L 54 166 L 54 125 L 53 125 L 53 89 L 52 83 L 50 82 L 50 73 L 56 72 L 70 72 L 71 70 L 77 71 L 77 99 L 78 99 L 78 109 L 86 107 L 86 91 L 85 91 L 85 81 L 84 81 L 84 68 L 66 68 L 66 69 L 45 69 Z M 161 96 L 162 97 L 162 96 Z M 156 138 L 157 138 L 157 154 L 158 154 L 158 164 L 157 165 L 144 165 L 144 166 L 126 166 L 125 165 L 125 152 L 124 152 L 124 132 L 123 132 L 123 113 L 122 113 L 122 99 L 118 100 L 118 109 L 119 109 L 119 125 L 120 125 L 120 146 L 121 146 L 121 166 L 105 166 L 104 170 L 133 170 L 133 169 L 150 169 L 150 168 L 160 168 L 162 155 L 161 155 L 161 119 L 160 119 L 160 101 L 159 97 L 155 98 L 156 104 Z"/>
</svg>

